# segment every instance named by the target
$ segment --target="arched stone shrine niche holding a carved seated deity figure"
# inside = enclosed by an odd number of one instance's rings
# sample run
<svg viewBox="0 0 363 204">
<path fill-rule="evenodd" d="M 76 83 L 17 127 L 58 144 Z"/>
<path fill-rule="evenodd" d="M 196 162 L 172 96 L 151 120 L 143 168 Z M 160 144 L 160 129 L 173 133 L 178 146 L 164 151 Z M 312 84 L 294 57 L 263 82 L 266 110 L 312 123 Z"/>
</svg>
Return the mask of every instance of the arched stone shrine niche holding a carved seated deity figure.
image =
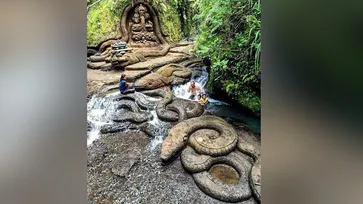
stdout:
<svg viewBox="0 0 363 204">
<path fill-rule="evenodd" d="M 121 33 L 131 47 L 154 47 L 166 43 L 157 13 L 148 3 L 128 6 L 121 19 Z"/>
</svg>

